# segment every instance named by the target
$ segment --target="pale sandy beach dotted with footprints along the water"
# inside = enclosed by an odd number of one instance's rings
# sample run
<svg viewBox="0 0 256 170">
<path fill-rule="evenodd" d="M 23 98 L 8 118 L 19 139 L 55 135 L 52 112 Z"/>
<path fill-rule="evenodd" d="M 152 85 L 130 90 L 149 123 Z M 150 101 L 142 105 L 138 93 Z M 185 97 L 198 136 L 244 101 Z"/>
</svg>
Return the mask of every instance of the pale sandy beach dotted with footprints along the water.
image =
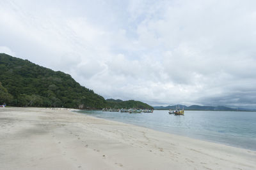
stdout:
<svg viewBox="0 0 256 170">
<path fill-rule="evenodd" d="M 0 108 L 0 169 L 256 169 L 256 152 L 67 109 Z"/>
</svg>

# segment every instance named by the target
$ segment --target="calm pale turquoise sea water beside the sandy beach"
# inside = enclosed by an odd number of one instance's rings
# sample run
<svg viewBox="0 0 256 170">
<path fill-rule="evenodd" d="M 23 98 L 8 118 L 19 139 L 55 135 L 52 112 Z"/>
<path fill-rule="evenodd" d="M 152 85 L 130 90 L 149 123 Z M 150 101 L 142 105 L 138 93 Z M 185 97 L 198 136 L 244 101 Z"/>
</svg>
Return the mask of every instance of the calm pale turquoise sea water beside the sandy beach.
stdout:
<svg viewBox="0 0 256 170">
<path fill-rule="evenodd" d="M 79 112 L 156 131 L 256 150 L 256 112 L 185 111 L 184 116 L 169 115 L 167 110 L 155 110 L 154 113 Z"/>
</svg>

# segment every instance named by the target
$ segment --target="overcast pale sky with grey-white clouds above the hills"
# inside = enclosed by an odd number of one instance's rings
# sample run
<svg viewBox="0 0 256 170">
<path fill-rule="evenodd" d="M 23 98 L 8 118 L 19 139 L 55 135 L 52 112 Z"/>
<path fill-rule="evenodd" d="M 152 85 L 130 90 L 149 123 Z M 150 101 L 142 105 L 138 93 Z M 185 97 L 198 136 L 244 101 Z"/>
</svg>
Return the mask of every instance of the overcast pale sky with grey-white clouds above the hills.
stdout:
<svg viewBox="0 0 256 170">
<path fill-rule="evenodd" d="M 0 52 L 105 99 L 256 108 L 256 1 L 0 0 Z"/>
</svg>

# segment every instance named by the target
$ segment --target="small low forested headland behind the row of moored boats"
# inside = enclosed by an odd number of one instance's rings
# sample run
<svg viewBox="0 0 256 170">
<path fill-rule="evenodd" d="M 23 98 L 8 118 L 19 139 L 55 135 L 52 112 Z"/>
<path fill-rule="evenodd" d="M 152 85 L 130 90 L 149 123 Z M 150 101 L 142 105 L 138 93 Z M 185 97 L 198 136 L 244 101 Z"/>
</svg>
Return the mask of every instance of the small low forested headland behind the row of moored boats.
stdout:
<svg viewBox="0 0 256 170">
<path fill-rule="evenodd" d="M 129 101 L 122 101 L 120 99 L 107 99 L 108 102 L 108 107 L 109 108 L 140 108 L 140 109 L 152 109 L 152 106 L 149 106 L 146 103 L 142 103 L 141 101 L 134 101 L 134 100 L 129 100 Z"/>
</svg>

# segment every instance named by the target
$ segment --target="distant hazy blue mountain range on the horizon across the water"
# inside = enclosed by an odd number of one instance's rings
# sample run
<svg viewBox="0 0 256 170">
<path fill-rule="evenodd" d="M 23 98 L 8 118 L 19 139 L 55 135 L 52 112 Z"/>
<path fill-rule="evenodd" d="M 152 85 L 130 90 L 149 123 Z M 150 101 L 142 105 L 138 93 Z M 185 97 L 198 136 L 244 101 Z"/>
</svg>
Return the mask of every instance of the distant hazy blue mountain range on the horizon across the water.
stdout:
<svg viewBox="0 0 256 170">
<path fill-rule="evenodd" d="M 180 109 L 184 108 L 184 110 L 209 110 L 209 111 L 255 111 L 246 108 L 228 108 L 225 106 L 184 106 L 181 104 L 173 105 L 173 106 L 154 106 L 155 110 L 175 110 L 179 106 Z"/>
</svg>

